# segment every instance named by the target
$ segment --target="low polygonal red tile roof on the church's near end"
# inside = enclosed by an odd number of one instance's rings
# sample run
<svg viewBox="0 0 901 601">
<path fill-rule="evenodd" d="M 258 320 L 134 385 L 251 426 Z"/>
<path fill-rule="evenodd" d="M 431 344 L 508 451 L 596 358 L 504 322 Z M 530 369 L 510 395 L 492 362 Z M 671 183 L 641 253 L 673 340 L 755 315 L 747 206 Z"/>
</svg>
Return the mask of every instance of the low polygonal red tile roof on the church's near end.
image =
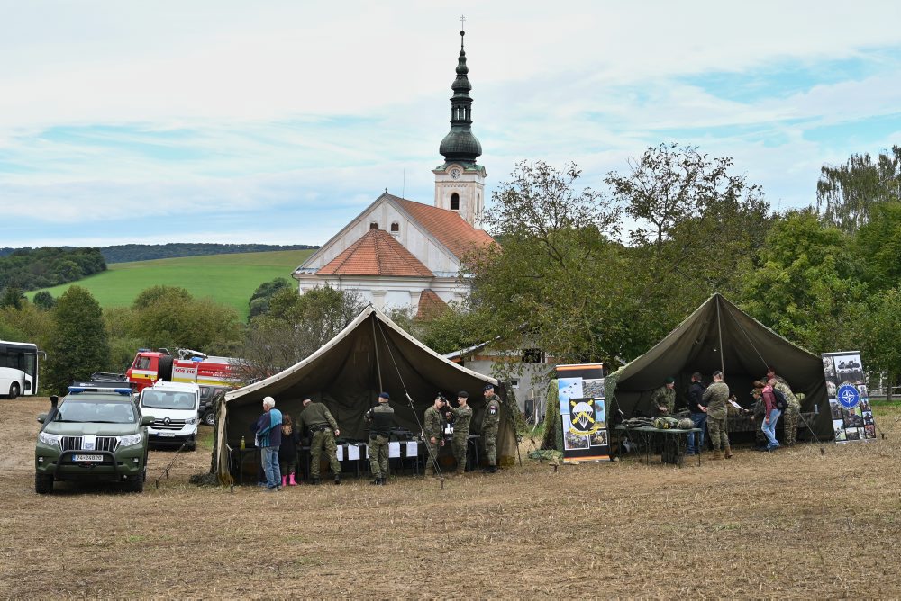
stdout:
<svg viewBox="0 0 901 601">
<path fill-rule="evenodd" d="M 384 229 L 370 229 L 316 273 L 434 277 L 428 267 Z"/>
</svg>

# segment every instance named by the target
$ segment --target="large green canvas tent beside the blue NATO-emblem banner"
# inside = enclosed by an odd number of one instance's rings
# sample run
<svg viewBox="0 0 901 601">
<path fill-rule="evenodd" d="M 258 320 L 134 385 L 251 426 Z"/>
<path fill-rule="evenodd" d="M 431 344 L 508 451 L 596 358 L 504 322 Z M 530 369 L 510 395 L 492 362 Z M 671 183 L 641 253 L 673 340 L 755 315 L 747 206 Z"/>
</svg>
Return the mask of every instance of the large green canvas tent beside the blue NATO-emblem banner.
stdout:
<svg viewBox="0 0 901 601">
<path fill-rule="evenodd" d="M 622 411 L 623 417 L 654 415 L 651 394 L 668 376 L 676 379 L 678 398 L 684 403 L 691 374 L 701 372 L 709 382 L 716 370 L 724 372 L 730 390 L 747 407 L 751 382 L 764 376 L 768 367 L 785 378 L 793 391 L 805 394 L 803 412 L 819 412 L 813 421 L 807 420 L 816 435 L 821 440 L 831 437 L 822 359 L 788 342 L 719 293 L 650 351 L 607 377 L 607 411 Z"/>
</svg>

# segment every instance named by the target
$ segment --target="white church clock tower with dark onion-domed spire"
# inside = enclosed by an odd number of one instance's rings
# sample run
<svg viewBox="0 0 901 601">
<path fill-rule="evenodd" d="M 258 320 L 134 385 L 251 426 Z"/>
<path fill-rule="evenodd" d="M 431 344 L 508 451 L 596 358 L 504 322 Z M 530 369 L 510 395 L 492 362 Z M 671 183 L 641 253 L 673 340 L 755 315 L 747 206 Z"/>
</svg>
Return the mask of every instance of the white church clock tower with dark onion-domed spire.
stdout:
<svg viewBox="0 0 901 601">
<path fill-rule="evenodd" d="M 473 228 L 481 229 L 482 211 L 485 207 L 485 167 L 476 165 L 482 154 L 482 145 L 472 135 L 472 98 L 469 97 L 469 68 L 463 50 L 460 31 L 460 58 L 457 60 L 457 78 L 451 89 L 451 131 L 441 140 L 439 152 L 444 163 L 432 169 L 435 174 L 435 206 L 458 211 L 460 217 Z"/>
</svg>

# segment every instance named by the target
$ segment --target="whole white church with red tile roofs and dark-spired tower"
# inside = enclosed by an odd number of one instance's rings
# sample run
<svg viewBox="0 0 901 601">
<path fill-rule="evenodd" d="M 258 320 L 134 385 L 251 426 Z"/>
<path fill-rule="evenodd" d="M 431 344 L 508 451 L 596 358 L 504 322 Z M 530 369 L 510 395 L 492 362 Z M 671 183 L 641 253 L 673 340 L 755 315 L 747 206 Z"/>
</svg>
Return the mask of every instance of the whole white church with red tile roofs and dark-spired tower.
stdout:
<svg viewBox="0 0 901 601">
<path fill-rule="evenodd" d="M 494 239 L 481 229 L 485 207 L 482 146 L 472 133 L 469 68 L 460 31 L 457 76 L 451 85 L 451 131 L 441 140 L 433 204 L 381 194 L 297 267 L 301 294 L 331 286 L 358 292 L 377 309 L 412 309 L 428 317 L 469 296 L 460 279 L 468 253 Z"/>
</svg>

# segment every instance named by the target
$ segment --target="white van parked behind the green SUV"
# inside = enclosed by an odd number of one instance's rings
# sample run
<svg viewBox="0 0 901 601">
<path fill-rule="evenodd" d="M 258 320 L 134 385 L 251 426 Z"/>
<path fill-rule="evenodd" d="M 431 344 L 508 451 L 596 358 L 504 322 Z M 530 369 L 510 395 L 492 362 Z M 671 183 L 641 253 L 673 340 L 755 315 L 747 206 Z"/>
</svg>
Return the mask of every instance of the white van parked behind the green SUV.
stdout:
<svg viewBox="0 0 901 601">
<path fill-rule="evenodd" d="M 148 426 L 150 444 L 185 444 L 193 451 L 197 444 L 200 418 L 200 387 L 176 381 L 158 381 L 141 390 L 141 415 L 152 415 Z"/>
</svg>

